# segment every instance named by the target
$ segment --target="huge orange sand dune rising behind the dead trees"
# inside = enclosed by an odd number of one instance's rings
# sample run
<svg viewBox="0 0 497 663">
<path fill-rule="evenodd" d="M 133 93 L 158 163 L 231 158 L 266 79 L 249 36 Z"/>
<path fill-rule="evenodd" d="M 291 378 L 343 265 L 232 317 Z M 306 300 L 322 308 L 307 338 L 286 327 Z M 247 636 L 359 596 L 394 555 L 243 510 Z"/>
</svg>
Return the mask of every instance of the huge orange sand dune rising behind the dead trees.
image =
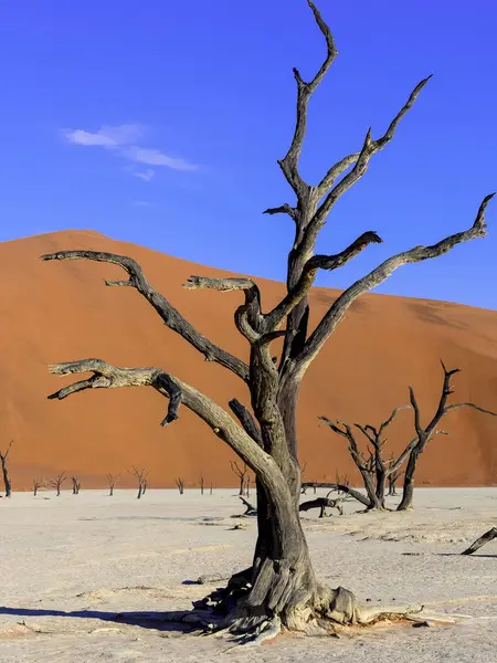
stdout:
<svg viewBox="0 0 497 663">
<path fill-rule="evenodd" d="M 236 293 L 186 291 L 191 274 L 229 275 L 141 246 L 116 242 L 91 231 L 66 231 L 0 244 L 0 446 L 14 440 L 11 472 L 14 490 L 34 475 L 76 473 L 84 487 L 105 485 L 106 473 L 131 465 L 150 470 L 149 484 L 187 487 L 236 484 L 231 451 L 187 409 L 161 429 L 167 402 L 151 389 L 86 391 L 65 401 L 46 400 L 66 382 L 46 365 L 99 357 L 121 366 L 158 366 L 203 390 L 219 403 L 236 397 L 247 403 L 244 386 L 219 366 L 205 362 L 165 327 L 131 288 L 105 287 L 121 278 L 113 265 L 89 262 L 42 263 L 43 253 L 67 249 L 110 251 L 135 257 L 149 281 L 205 336 L 246 358 L 233 313 Z M 267 309 L 284 288 L 258 281 Z M 315 288 L 311 325 L 337 296 Z M 276 346 L 276 344 L 275 344 Z M 454 379 L 456 400 L 497 410 L 497 312 L 456 304 L 366 295 L 349 311 L 325 350 L 310 367 L 299 406 L 300 459 L 308 481 L 331 481 L 336 471 L 357 475 L 345 441 L 319 427 L 317 415 L 378 424 L 408 402 L 412 385 L 427 418 L 442 383 L 438 359 L 463 372 Z M 228 407 L 228 406 L 226 406 Z M 497 483 L 497 420 L 462 410 L 446 417 L 450 436 L 437 436 L 425 452 L 417 485 Z M 412 435 L 412 414 L 402 412 L 388 445 L 399 451 Z M 67 481 L 65 487 L 70 487 Z"/>
</svg>

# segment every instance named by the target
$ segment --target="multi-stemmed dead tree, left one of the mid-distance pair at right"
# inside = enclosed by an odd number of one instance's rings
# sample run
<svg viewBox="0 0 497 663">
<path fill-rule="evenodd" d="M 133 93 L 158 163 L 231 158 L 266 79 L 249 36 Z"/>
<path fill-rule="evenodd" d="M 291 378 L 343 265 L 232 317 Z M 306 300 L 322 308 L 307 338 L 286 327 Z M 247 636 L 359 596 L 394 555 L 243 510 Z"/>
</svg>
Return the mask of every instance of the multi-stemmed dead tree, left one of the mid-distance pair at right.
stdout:
<svg viewBox="0 0 497 663">
<path fill-rule="evenodd" d="M 327 417 L 318 417 L 318 419 L 328 425 L 334 433 L 347 440 L 350 457 L 362 477 L 362 483 L 368 496 L 368 509 L 384 509 L 385 482 L 390 476 L 396 473 L 400 467 L 398 462 L 390 462 L 383 459 L 383 448 L 387 441 L 384 433 L 389 425 L 395 420 L 399 411 L 405 410 L 409 407 L 410 406 L 401 406 L 400 408 L 395 408 L 379 428 L 371 424 L 353 424 L 353 427 L 366 438 L 368 446 L 367 452 L 359 449 L 355 431 L 350 424 L 345 421 L 332 421 Z M 337 485 L 339 485 L 339 483 L 340 482 L 337 481 Z M 346 490 L 342 492 L 357 498 L 357 492 L 355 491 L 351 493 L 348 485 L 346 485 Z M 363 499 L 360 499 L 360 502 L 364 504 Z"/>
</svg>

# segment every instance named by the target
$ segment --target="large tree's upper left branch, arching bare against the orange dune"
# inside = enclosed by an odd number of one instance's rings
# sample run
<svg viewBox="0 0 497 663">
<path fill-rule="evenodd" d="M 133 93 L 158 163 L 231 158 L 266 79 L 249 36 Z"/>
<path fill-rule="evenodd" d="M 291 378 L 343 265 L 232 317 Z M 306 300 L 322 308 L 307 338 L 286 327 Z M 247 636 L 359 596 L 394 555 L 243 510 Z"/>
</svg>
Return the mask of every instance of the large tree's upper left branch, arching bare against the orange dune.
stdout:
<svg viewBox="0 0 497 663">
<path fill-rule="evenodd" d="M 129 274 L 129 281 L 106 282 L 108 285 L 129 285 L 135 287 L 147 299 L 147 302 L 154 306 L 169 329 L 172 329 L 172 332 L 179 334 L 182 338 L 184 338 L 184 340 L 199 350 L 199 352 L 205 357 L 207 361 L 215 361 L 221 366 L 224 366 L 236 376 L 242 378 L 242 380 L 247 382 L 247 365 L 237 357 L 234 357 L 230 352 L 226 352 L 222 348 L 212 344 L 188 320 L 186 320 L 163 295 L 151 287 L 144 274 L 142 269 L 131 257 L 97 251 L 57 251 L 56 253 L 42 255 L 40 260 L 92 260 L 118 265 Z"/>
</svg>

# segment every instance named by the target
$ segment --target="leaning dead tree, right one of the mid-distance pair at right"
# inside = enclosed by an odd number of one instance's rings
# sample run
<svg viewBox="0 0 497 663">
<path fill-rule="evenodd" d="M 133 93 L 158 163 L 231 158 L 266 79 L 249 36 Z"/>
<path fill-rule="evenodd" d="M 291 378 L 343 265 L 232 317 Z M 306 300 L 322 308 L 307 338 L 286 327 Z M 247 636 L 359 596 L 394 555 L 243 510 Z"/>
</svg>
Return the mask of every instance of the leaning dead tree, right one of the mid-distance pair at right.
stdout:
<svg viewBox="0 0 497 663">
<path fill-rule="evenodd" d="M 409 456 L 408 464 L 405 467 L 404 474 L 404 484 L 402 488 L 402 499 L 398 506 L 398 511 L 408 511 L 412 508 L 412 497 L 414 493 L 414 474 L 417 467 L 417 461 L 420 455 L 426 449 L 426 444 L 432 440 L 436 434 L 446 435 L 445 431 L 437 429 L 438 423 L 453 410 L 458 410 L 459 408 L 472 408 L 477 410 L 478 412 L 483 412 L 485 414 L 491 414 L 496 417 L 495 412 L 490 412 L 489 410 L 485 410 L 479 406 L 475 406 L 475 403 L 452 403 L 447 406 L 447 400 L 451 393 L 454 392 L 451 386 L 451 380 L 453 376 L 461 372 L 459 368 L 453 368 L 452 370 L 447 370 L 444 366 L 444 362 L 441 361 L 442 369 L 444 371 L 444 380 L 442 385 L 442 394 L 438 400 L 438 406 L 436 408 L 435 414 L 430 420 L 430 423 L 425 427 L 421 423 L 421 412 L 420 407 L 417 404 L 416 397 L 414 394 L 414 389 L 412 387 L 409 388 L 409 393 L 411 397 L 411 406 L 414 411 L 414 429 L 415 429 L 415 438 L 408 444 L 406 449 L 401 455 Z M 395 470 L 398 470 L 399 463 L 393 465 Z"/>
</svg>

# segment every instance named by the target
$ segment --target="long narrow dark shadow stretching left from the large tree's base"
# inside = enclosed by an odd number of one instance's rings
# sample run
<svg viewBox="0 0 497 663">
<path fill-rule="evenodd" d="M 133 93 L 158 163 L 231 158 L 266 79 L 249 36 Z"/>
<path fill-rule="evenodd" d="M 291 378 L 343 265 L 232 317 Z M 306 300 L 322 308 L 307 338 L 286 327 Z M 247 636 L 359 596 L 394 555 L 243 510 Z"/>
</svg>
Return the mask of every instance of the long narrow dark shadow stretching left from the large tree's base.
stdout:
<svg viewBox="0 0 497 663">
<path fill-rule="evenodd" d="M 8 614 L 21 618 L 40 617 L 66 617 L 76 619 L 95 619 L 115 624 L 128 624 L 131 627 L 141 627 L 142 629 L 152 629 L 156 631 L 169 631 L 177 633 L 190 633 L 198 630 L 198 625 L 171 621 L 179 612 L 188 614 L 190 611 L 181 610 L 178 612 L 104 612 L 99 610 L 49 610 L 41 608 L 8 608 L 0 606 L 0 615 Z"/>
</svg>

